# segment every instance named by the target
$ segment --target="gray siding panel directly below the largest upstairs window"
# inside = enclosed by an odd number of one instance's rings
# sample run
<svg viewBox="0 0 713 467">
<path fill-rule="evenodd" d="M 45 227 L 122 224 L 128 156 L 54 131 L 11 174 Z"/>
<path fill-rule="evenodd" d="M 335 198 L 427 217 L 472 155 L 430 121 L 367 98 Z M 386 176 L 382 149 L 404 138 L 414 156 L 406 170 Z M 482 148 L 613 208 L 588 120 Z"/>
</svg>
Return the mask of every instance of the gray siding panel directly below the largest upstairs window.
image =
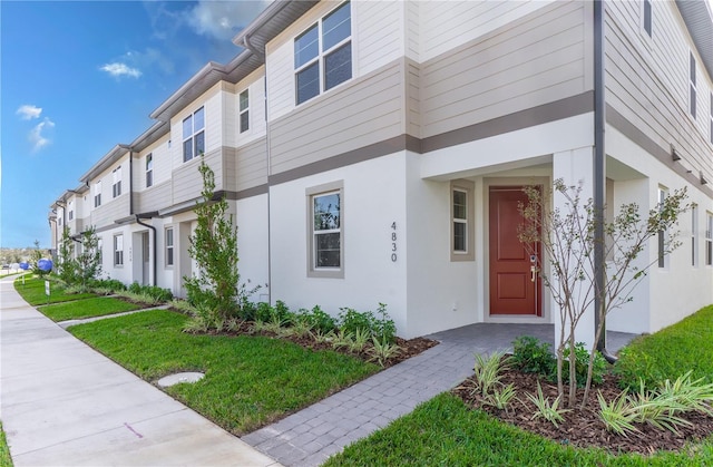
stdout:
<svg viewBox="0 0 713 467">
<path fill-rule="evenodd" d="M 359 77 L 271 124 L 271 174 L 403 134 L 403 60 Z"/>
</svg>

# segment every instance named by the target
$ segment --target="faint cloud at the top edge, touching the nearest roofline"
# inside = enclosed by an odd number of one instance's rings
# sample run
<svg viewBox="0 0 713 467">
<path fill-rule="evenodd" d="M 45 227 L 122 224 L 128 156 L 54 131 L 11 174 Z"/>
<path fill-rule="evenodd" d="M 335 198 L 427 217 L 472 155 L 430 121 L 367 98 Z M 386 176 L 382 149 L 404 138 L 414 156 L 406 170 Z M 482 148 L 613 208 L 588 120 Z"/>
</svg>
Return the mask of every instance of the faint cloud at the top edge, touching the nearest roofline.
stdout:
<svg viewBox="0 0 713 467">
<path fill-rule="evenodd" d="M 198 35 L 231 40 L 270 1 L 265 0 L 199 0 L 195 7 L 186 12 L 186 22 Z"/>
</svg>

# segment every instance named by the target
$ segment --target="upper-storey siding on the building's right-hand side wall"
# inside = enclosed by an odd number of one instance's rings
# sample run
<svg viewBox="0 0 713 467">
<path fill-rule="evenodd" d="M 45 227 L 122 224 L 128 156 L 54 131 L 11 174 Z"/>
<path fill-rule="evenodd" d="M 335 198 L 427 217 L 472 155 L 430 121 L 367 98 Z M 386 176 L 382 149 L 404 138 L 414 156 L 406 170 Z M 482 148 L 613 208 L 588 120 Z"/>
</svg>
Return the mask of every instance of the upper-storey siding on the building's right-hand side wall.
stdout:
<svg viewBox="0 0 713 467">
<path fill-rule="evenodd" d="M 690 48 L 680 30 L 682 22 L 675 21 L 674 12 L 665 4 L 654 2 L 654 7 L 649 39 L 642 36 L 636 2 L 607 3 L 607 104 L 664 150 L 673 144 L 686 168 L 695 175 L 702 171 L 712 181 L 712 146 L 688 113 Z M 699 94 L 707 97 L 705 80 L 700 78 Z M 705 110 L 699 107 L 699 120 L 710 118 Z"/>
</svg>

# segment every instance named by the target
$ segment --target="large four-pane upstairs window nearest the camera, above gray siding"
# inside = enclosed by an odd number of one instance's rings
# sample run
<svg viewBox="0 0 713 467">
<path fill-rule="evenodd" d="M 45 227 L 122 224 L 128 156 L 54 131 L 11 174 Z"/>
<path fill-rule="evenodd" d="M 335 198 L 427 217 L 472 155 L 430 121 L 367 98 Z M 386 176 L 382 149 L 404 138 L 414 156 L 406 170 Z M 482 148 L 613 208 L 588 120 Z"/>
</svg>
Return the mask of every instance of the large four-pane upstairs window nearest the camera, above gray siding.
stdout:
<svg viewBox="0 0 713 467">
<path fill-rule="evenodd" d="M 352 77 L 351 7 L 342 3 L 294 40 L 295 101 Z"/>
</svg>

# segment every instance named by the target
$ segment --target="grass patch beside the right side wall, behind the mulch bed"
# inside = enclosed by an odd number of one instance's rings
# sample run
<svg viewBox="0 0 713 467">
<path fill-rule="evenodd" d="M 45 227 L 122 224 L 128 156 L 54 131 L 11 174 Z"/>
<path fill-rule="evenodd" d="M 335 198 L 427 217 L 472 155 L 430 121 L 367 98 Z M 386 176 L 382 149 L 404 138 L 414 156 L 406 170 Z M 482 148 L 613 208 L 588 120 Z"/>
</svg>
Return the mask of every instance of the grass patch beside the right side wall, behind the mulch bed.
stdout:
<svg viewBox="0 0 713 467">
<path fill-rule="evenodd" d="M 666 379 L 675 380 L 692 370 L 692 379 L 713 382 L 713 305 L 695 314 L 636 339 L 619 352 L 615 371 L 622 382 L 638 389 L 638 379 L 656 386 Z"/>
</svg>

